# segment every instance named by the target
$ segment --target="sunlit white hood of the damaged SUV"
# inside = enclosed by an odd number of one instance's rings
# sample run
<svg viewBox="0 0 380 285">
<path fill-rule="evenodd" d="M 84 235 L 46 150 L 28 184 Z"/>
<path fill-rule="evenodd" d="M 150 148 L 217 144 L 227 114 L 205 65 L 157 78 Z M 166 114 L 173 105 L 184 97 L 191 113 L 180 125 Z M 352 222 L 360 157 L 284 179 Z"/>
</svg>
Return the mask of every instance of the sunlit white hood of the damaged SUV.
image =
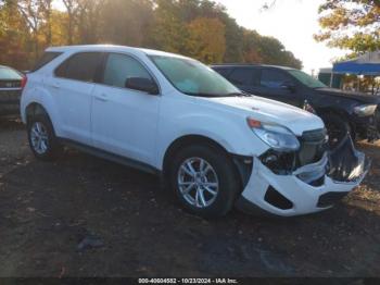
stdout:
<svg viewBox="0 0 380 285">
<path fill-rule="evenodd" d="M 252 116 L 261 122 L 286 126 L 296 136 L 302 136 L 305 131 L 325 127 L 324 122 L 309 112 L 257 96 L 202 99 L 227 106 L 238 112 L 245 112 L 246 116 Z"/>
</svg>

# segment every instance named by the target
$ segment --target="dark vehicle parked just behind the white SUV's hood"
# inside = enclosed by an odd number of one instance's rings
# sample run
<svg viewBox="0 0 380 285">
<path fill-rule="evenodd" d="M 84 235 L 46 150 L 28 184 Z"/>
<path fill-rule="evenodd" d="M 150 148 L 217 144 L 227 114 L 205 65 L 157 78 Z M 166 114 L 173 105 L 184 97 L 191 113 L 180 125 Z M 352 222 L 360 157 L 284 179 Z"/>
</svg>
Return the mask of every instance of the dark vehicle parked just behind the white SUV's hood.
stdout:
<svg viewBox="0 0 380 285">
<path fill-rule="evenodd" d="M 293 104 L 315 112 L 324 121 L 330 144 L 347 133 L 353 138 L 379 138 L 380 98 L 327 87 L 306 73 L 271 65 L 214 65 L 242 91 Z"/>
</svg>

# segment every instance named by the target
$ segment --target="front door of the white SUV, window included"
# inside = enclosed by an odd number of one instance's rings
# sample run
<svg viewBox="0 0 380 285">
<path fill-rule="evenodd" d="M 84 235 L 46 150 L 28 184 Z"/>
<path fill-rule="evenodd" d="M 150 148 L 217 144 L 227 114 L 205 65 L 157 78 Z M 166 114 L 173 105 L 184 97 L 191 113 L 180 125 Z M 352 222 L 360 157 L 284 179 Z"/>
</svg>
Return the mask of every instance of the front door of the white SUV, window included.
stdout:
<svg viewBox="0 0 380 285">
<path fill-rule="evenodd" d="M 102 84 L 93 90 L 92 138 L 97 148 L 153 163 L 161 96 L 128 89 L 126 79 L 152 79 L 144 65 L 124 53 L 105 59 Z"/>
</svg>

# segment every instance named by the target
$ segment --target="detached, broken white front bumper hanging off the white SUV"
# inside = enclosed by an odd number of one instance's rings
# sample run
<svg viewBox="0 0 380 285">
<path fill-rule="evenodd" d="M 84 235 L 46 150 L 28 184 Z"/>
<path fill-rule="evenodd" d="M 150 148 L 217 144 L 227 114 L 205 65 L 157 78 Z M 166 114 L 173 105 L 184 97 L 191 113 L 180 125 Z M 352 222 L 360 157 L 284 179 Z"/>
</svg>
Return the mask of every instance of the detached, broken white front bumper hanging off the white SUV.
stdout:
<svg viewBox="0 0 380 285">
<path fill-rule="evenodd" d="M 237 201 L 245 212 L 292 216 L 329 209 L 358 186 L 370 161 L 346 137 L 333 151 L 292 173 L 279 174 L 254 158 L 251 177 Z"/>
</svg>

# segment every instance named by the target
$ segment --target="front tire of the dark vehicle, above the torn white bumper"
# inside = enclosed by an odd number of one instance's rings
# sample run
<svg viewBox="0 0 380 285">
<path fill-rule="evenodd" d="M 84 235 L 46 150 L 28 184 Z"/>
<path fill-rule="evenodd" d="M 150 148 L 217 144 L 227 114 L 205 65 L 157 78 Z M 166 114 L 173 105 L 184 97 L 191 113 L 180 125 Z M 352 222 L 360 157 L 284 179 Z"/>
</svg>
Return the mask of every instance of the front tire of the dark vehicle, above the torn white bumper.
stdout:
<svg viewBox="0 0 380 285">
<path fill-rule="evenodd" d="M 321 119 L 325 122 L 327 133 L 329 135 L 329 146 L 330 148 L 337 147 L 342 139 L 350 134 L 353 139 L 355 139 L 354 134 L 351 129 L 349 122 L 344 117 L 337 114 L 326 114 Z"/>
</svg>

